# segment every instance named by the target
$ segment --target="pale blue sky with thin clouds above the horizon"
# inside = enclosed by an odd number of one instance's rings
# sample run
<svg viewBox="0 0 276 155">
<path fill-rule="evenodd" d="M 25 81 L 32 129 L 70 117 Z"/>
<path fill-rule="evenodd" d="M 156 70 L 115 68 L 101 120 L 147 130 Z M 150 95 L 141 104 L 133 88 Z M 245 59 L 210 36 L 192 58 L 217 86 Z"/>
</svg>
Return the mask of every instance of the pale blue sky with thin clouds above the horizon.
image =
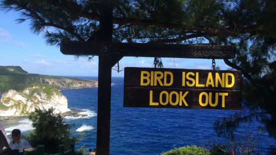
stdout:
<svg viewBox="0 0 276 155">
<path fill-rule="evenodd" d="M 16 23 L 18 12 L 0 11 L 0 65 L 20 65 L 30 73 L 47 75 L 98 76 L 98 57 L 91 62 L 73 55 L 64 55 L 59 47 L 45 43 L 43 33 L 32 33 L 29 21 Z M 165 68 L 210 69 L 211 59 L 162 58 Z M 123 57 L 123 67 L 152 67 L 153 57 Z M 228 66 L 216 60 L 221 69 Z M 124 72 L 112 72 L 112 76 L 123 76 Z"/>
</svg>

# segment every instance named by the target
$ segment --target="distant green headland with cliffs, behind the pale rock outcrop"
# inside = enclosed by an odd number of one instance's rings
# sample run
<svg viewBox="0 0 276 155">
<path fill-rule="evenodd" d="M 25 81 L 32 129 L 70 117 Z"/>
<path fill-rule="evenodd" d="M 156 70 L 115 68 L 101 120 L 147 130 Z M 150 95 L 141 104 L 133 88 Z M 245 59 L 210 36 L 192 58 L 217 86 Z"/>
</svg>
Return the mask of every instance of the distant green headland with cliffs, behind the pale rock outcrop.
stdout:
<svg viewBox="0 0 276 155">
<path fill-rule="evenodd" d="M 35 83 L 48 83 L 46 79 L 54 79 L 55 82 L 52 85 L 58 89 L 60 89 L 59 86 L 61 84 L 62 88 L 76 87 L 74 85 L 77 83 L 76 81 L 95 82 L 92 80 L 28 73 L 20 66 L 0 66 L 0 93 L 7 92 L 9 89 L 23 90 Z"/>
</svg>

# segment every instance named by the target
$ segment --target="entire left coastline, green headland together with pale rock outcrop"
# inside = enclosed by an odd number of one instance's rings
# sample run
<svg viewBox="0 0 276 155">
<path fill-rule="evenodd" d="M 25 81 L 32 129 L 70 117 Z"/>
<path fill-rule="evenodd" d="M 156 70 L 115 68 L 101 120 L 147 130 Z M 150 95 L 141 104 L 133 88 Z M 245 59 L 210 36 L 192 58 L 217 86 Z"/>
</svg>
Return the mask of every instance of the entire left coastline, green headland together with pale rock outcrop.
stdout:
<svg viewBox="0 0 276 155">
<path fill-rule="evenodd" d="M 28 73 L 20 66 L 0 66 L 0 116 L 24 116 L 39 109 L 70 112 L 59 89 L 98 86 L 96 80 Z"/>
</svg>

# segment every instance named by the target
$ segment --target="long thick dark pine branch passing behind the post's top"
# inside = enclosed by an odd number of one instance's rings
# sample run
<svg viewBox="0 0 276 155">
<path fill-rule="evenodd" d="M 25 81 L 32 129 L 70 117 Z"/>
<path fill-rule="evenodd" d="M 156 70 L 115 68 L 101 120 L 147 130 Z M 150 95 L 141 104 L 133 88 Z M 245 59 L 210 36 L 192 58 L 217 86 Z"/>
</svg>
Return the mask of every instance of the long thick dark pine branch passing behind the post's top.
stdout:
<svg viewBox="0 0 276 155">
<path fill-rule="evenodd" d="M 92 20 L 99 20 L 100 14 L 98 13 L 90 13 L 83 10 L 74 11 L 70 7 L 65 6 L 59 0 L 50 0 L 50 3 L 54 6 L 64 10 L 72 15 L 80 15 L 82 17 L 87 17 Z M 80 6 L 79 4 L 75 3 L 75 5 Z M 204 31 L 210 33 L 210 35 L 236 35 L 239 33 L 252 33 L 256 34 L 256 31 L 260 31 L 263 29 L 262 25 L 249 25 L 245 27 L 208 27 L 208 26 L 196 26 L 196 25 L 185 25 L 182 23 L 169 23 L 169 22 L 159 22 L 153 19 L 139 19 L 139 18 L 132 18 L 132 17 L 113 17 L 113 23 L 119 25 L 142 25 L 142 26 L 159 26 L 164 28 L 175 28 L 175 29 L 186 29 L 186 30 L 197 30 L 197 31 Z M 276 38 L 275 33 L 269 33 L 269 37 Z"/>
</svg>

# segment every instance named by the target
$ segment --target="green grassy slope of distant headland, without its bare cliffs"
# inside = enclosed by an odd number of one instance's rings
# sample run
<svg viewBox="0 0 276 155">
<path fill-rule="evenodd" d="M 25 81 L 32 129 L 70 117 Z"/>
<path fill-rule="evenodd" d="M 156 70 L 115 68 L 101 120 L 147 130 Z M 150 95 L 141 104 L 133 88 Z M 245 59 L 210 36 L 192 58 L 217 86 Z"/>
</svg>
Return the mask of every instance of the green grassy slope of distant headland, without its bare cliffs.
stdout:
<svg viewBox="0 0 276 155">
<path fill-rule="evenodd" d="M 45 83 L 43 78 L 67 78 L 60 76 L 49 76 L 28 73 L 20 66 L 0 66 L 0 93 L 7 92 L 9 89 L 23 90 L 35 83 Z M 84 80 L 70 78 L 74 80 Z"/>
</svg>

